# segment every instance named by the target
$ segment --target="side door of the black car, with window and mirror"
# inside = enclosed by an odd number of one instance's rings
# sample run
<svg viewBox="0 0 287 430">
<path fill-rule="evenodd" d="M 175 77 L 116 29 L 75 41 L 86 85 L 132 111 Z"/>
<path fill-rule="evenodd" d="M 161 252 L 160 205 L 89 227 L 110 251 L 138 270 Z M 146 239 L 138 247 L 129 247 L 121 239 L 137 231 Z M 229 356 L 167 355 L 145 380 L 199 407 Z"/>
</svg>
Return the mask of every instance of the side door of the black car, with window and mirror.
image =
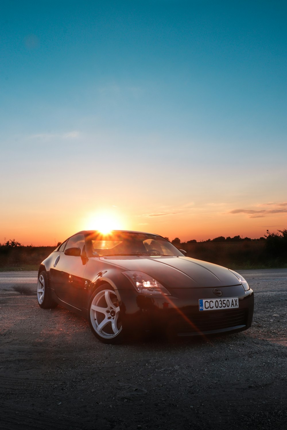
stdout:
<svg viewBox="0 0 287 430">
<path fill-rule="evenodd" d="M 85 238 L 82 233 L 78 233 L 68 239 L 65 251 L 61 253 L 53 270 L 56 295 L 77 309 L 82 308 L 86 261 Z"/>
</svg>

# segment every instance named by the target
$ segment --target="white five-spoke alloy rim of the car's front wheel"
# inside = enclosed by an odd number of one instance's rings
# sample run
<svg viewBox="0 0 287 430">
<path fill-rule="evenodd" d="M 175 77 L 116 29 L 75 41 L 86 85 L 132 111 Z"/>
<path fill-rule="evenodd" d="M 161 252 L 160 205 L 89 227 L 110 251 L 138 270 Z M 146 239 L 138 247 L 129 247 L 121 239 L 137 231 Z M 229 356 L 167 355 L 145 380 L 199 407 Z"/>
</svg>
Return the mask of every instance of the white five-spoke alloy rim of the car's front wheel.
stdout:
<svg viewBox="0 0 287 430">
<path fill-rule="evenodd" d="M 90 321 L 96 334 L 103 339 L 112 339 L 120 334 L 120 307 L 113 290 L 98 292 L 90 306 Z"/>
</svg>

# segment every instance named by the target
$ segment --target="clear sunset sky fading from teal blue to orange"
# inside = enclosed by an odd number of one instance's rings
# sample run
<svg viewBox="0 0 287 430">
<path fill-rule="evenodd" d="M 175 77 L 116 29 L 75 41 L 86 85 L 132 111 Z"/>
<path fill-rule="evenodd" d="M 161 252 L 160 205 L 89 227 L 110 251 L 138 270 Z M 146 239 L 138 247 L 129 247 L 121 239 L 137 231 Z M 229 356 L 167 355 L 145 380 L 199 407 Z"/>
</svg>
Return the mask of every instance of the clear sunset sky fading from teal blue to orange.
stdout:
<svg viewBox="0 0 287 430">
<path fill-rule="evenodd" d="M 287 201 L 286 12 L 283 1 L 4 1 L 0 241 L 35 242 L 40 220 L 43 241 L 61 240 L 85 227 L 81 209 L 114 206 L 127 228 L 186 240 L 286 227 L 285 212 L 230 213 Z"/>
</svg>

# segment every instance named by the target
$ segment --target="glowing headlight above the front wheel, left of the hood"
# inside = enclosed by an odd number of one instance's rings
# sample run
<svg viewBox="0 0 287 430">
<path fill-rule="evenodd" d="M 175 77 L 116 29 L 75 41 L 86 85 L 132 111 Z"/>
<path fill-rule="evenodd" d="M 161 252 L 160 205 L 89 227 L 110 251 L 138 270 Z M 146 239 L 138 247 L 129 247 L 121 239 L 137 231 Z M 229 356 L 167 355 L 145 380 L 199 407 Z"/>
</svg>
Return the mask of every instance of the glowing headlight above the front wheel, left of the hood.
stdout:
<svg viewBox="0 0 287 430">
<path fill-rule="evenodd" d="M 164 286 L 162 286 L 157 280 L 153 279 L 151 276 L 143 272 L 134 272 L 133 270 L 128 270 L 123 272 L 123 275 L 130 279 L 130 282 L 135 287 L 136 291 L 141 294 L 164 294 L 170 295 Z"/>
</svg>

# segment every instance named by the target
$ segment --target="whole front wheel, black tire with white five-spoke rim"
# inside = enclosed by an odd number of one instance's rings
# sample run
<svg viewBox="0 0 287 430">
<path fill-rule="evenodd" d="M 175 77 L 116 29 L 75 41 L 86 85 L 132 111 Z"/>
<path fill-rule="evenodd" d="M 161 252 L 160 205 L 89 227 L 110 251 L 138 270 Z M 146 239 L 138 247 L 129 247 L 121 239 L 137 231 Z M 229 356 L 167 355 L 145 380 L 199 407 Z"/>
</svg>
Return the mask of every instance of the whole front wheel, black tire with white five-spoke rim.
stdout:
<svg viewBox="0 0 287 430">
<path fill-rule="evenodd" d="M 123 341 L 123 327 L 117 295 L 110 284 L 97 289 L 89 301 L 89 325 L 93 334 L 105 344 Z"/>
</svg>

